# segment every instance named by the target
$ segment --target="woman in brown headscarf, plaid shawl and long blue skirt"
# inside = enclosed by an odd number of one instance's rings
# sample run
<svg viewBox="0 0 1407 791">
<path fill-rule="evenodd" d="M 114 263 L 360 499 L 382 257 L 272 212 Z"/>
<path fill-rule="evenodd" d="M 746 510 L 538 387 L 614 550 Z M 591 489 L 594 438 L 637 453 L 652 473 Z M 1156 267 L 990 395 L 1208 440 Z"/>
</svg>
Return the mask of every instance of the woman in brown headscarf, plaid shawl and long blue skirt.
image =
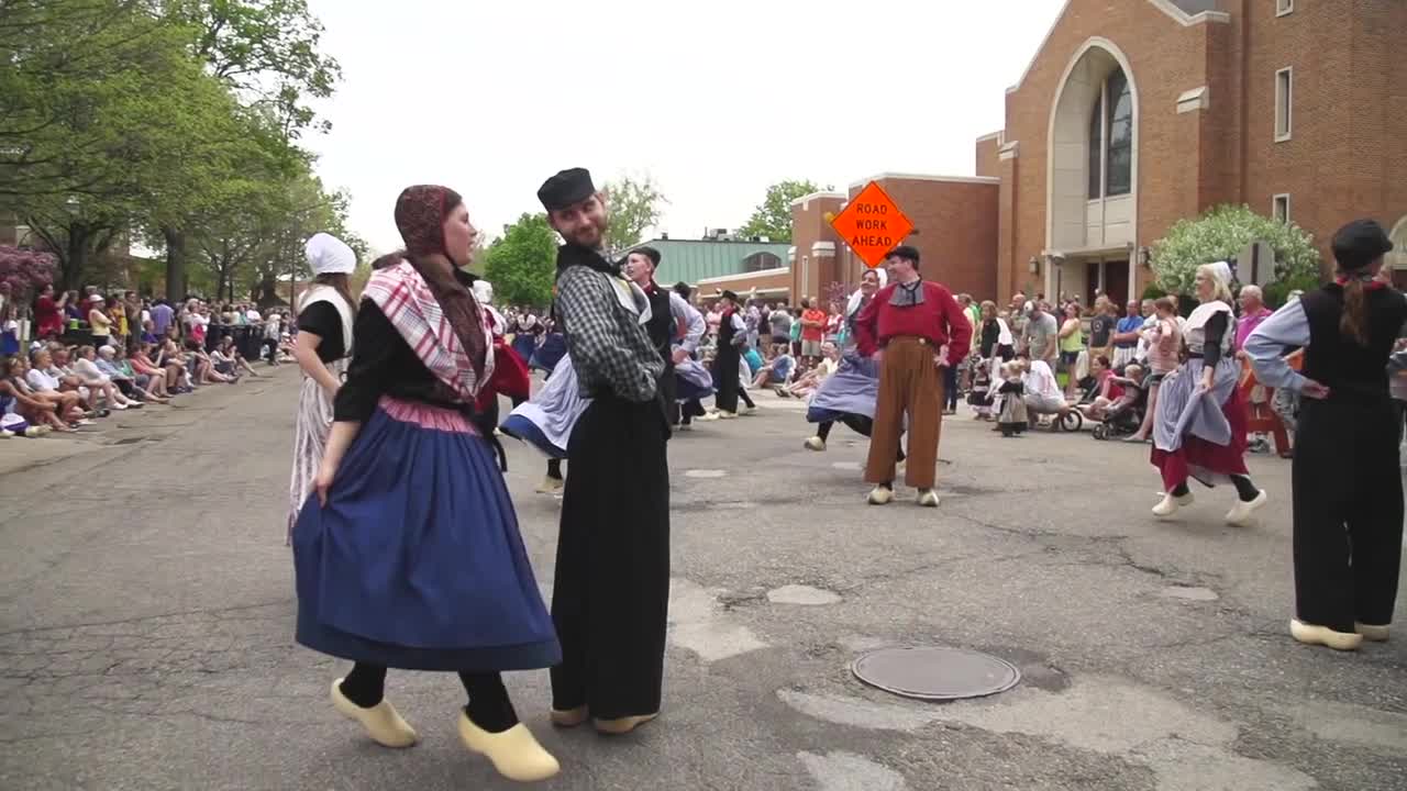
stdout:
<svg viewBox="0 0 1407 791">
<path fill-rule="evenodd" d="M 518 722 L 501 671 L 561 649 L 512 501 L 471 404 L 492 376 L 491 328 L 469 290 L 474 229 L 459 194 L 401 193 L 405 258 L 377 270 L 355 327 L 315 497 L 293 533 L 297 639 L 356 664 L 332 702 L 380 745 L 415 730 L 384 697 L 388 667 L 457 671 L 459 735 L 512 780 L 557 761 Z"/>
</svg>

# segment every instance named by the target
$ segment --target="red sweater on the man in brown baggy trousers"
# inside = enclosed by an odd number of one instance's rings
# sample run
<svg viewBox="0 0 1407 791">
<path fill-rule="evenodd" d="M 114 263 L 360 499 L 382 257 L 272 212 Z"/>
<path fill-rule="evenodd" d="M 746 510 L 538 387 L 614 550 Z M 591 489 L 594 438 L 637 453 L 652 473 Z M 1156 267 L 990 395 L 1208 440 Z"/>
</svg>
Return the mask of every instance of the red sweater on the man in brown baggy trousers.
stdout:
<svg viewBox="0 0 1407 791">
<path fill-rule="evenodd" d="M 924 280 L 923 304 L 899 308 L 889 304 L 889 297 L 898 287 L 896 283 L 891 283 L 879 289 L 870 304 L 860 308 L 860 315 L 855 317 L 855 343 L 860 353 L 870 356 L 875 349 L 884 348 L 891 338 L 912 335 L 927 338 L 934 352 L 946 345 L 948 365 L 955 366 L 962 362 L 972 346 L 972 322 L 953 298 L 953 291 Z"/>
</svg>

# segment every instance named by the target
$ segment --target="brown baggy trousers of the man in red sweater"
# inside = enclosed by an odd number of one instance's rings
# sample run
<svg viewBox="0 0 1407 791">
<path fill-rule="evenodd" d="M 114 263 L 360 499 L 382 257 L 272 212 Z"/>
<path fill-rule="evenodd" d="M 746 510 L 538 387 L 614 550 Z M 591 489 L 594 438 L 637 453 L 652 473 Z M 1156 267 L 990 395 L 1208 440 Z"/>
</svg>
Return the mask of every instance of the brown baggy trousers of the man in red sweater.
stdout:
<svg viewBox="0 0 1407 791">
<path fill-rule="evenodd" d="M 909 469 L 903 483 L 933 488 L 937 477 L 938 434 L 943 429 L 943 373 L 933 362 L 937 349 L 927 338 L 893 338 L 879 365 L 879 403 L 870 436 L 865 480 L 892 483 L 903 415 L 909 415 Z"/>
</svg>

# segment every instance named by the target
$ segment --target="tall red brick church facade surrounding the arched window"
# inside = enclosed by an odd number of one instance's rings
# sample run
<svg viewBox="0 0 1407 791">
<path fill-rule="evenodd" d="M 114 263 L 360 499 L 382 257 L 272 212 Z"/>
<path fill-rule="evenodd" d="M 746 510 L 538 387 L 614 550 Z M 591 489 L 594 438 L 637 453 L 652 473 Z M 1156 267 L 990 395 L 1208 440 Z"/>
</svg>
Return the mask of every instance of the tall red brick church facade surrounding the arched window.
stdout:
<svg viewBox="0 0 1407 791">
<path fill-rule="evenodd" d="M 1325 259 L 1328 236 L 1348 220 L 1393 228 L 1407 215 L 1407 58 L 1393 48 L 1407 39 L 1407 3 L 1299 1 L 1285 15 L 1275 0 L 1221 0 L 1218 8 L 1192 15 L 1171 0 L 1069 0 L 1006 97 L 1002 139 L 1014 151 L 998 160 L 1002 296 L 1054 291 L 1057 272 L 1082 279 L 1085 258 L 1137 262 L 1137 249 L 1175 221 L 1220 203 L 1271 215 L 1273 196 L 1287 194 L 1290 220 L 1314 234 Z M 1069 251 L 1052 232 L 1057 97 L 1089 52 L 1106 73 L 1117 62 L 1133 84 L 1131 251 Z M 1276 141 L 1276 72 L 1285 68 L 1293 69 L 1290 137 Z M 1097 66 L 1090 70 L 1097 79 Z M 989 141 L 976 144 L 979 175 L 992 167 Z M 1052 269 L 1051 253 L 1065 255 L 1064 267 Z M 1137 296 L 1151 272 L 1128 270 Z"/>
</svg>

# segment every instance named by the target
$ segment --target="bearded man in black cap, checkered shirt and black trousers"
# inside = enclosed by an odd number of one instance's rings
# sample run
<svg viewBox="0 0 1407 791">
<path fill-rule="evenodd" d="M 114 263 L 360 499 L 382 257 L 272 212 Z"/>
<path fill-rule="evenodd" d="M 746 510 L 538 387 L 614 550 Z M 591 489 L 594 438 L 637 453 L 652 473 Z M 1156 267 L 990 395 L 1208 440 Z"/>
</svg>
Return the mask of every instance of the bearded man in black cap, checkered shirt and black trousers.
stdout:
<svg viewBox="0 0 1407 791">
<path fill-rule="evenodd" d="M 557 312 L 591 405 L 567 445 L 552 619 L 552 721 L 628 733 L 660 712 L 670 602 L 668 425 L 650 300 L 602 252 L 606 196 L 575 167 L 537 190 L 557 249 Z"/>
</svg>

